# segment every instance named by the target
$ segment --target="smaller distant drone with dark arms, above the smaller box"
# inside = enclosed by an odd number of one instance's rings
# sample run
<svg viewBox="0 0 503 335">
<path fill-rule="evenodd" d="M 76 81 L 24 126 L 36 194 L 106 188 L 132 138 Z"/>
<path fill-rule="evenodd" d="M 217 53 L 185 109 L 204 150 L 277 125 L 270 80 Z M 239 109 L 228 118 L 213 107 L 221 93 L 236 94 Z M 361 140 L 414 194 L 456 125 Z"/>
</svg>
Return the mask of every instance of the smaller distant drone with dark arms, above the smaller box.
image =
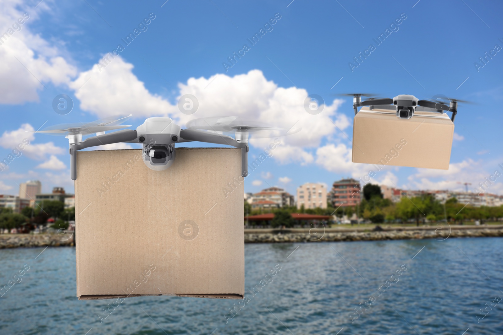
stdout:
<svg viewBox="0 0 503 335">
<path fill-rule="evenodd" d="M 345 96 L 353 96 L 353 109 L 355 110 L 355 115 L 358 114 L 357 107 L 370 106 L 370 109 L 391 109 L 396 111 L 396 117 L 399 119 L 408 120 L 414 116 L 414 111 L 433 111 L 435 113 L 444 114 L 452 111 L 451 121 L 454 122 L 454 118 L 458 113 L 458 102 L 469 103 L 469 101 L 451 99 L 449 104 L 439 101 L 439 100 L 420 100 L 413 95 L 400 94 L 394 98 L 368 98 L 362 101 L 362 96 L 373 96 L 374 94 L 363 94 L 363 93 L 351 93 L 351 94 L 340 94 Z"/>
</svg>

